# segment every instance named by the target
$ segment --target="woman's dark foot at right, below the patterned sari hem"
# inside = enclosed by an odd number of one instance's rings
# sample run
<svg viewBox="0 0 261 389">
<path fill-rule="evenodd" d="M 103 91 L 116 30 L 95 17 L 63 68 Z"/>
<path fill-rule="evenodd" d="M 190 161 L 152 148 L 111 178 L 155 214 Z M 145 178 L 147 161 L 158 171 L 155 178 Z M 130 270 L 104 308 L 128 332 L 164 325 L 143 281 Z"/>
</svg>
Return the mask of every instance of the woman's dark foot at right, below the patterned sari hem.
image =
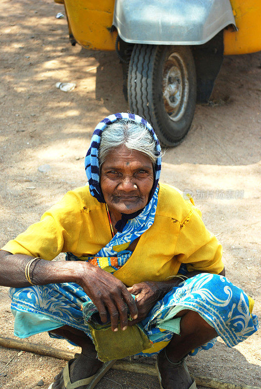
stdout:
<svg viewBox="0 0 261 389">
<path fill-rule="evenodd" d="M 193 381 L 185 368 L 185 363 L 169 362 L 165 350 L 157 356 L 157 366 L 161 375 L 161 386 L 164 389 L 188 389 Z"/>
</svg>

